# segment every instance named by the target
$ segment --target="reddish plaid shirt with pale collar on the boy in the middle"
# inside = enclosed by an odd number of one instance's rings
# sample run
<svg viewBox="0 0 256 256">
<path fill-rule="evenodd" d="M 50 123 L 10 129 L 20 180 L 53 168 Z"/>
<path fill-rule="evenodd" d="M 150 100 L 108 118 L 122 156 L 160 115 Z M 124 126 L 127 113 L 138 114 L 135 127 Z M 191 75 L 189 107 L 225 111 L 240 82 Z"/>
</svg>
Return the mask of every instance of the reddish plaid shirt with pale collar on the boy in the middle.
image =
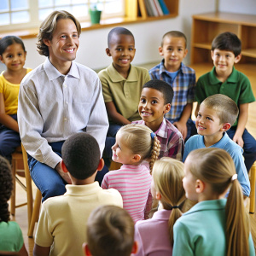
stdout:
<svg viewBox="0 0 256 256">
<path fill-rule="evenodd" d="M 145 125 L 143 120 L 134 121 L 132 124 Z M 184 142 L 183 136 L 177 128 L 166 119 L 163 119 L 160 128 L 154 132 L 160 141 L 159 159 L 163 156 L 172 157 L 177 160 L 183 159 Z"/>
</svg>

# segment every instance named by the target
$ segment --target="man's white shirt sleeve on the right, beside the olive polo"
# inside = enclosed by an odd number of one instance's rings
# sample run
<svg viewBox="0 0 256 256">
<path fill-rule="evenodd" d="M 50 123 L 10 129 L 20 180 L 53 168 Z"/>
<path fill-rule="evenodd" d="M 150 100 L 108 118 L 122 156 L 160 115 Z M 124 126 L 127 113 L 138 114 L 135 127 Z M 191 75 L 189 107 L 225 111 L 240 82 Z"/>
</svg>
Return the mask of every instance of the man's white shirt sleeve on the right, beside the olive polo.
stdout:
<svg viewBox="0 0 256 256">
<path fill-rule="evenodd" d="M 96 138 L 102 153 L 108 132 L 108 114 L 103 100 L 102 84 L 99 78 L 96 78 L 95 91 L 91 102 L 86 132 Z"/>
</svg>

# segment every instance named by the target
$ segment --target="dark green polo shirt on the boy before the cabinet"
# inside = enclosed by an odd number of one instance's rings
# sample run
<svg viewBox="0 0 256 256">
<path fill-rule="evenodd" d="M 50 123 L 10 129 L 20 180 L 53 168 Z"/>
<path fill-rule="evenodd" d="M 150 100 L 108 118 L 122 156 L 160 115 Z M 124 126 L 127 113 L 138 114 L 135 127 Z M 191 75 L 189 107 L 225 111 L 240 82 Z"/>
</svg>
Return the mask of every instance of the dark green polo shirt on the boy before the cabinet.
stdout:
<svg viewBox="0 0 256 256">
<path fill-rule="evenodd" d="M 202 75 L 195 87 L 195 99 L 199 104 L 208 96 L 224 94 L 229 96 L 239 108 L 240 104 L 255 102 L 252 86 L 247 76 L 233 67 L 230 77 L 222 83 L 215 75 L 215 67 L 212 71 Z M 237 125 L 237 120 L 233 126 Z"/>
</svg>

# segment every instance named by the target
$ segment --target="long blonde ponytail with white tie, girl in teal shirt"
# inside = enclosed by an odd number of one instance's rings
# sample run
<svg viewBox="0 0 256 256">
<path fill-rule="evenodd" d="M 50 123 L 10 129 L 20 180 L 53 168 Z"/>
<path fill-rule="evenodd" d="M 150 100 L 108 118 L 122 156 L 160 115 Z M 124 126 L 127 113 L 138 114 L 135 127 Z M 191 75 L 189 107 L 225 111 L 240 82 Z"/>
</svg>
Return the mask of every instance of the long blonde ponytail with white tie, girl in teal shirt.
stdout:
<svg viewBox="0 0 256 256">
<path fill-rule="evenodd" d="M 232 181 L 236 167 L 230 154 L 221 148 L 200 148 L 192 151 L 189 158 L 189 171 L 211 184 L 213 192 L 221 195 L 230 187 L 225 207 L 226 255 L 249 255 L 249 219 L 243 205 L 241 185 L 237 178 Z"/>
</svg>

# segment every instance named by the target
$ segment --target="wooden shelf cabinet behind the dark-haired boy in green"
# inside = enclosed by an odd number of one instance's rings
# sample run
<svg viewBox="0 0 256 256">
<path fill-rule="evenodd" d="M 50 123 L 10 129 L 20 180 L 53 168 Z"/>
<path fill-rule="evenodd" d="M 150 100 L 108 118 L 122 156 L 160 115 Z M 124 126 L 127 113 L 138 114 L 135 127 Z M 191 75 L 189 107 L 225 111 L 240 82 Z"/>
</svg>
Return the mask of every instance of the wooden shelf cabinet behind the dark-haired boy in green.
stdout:
<svg viewBox="0 0 256 256">
<path fill-rule="evenodd" d="M 191 64 L 212 61 L 212 39 L 222 32 L 241 39 L 241 62 L 256 62 L 256 15 L 218 12 L 193 15 Z"/>
</svg>

